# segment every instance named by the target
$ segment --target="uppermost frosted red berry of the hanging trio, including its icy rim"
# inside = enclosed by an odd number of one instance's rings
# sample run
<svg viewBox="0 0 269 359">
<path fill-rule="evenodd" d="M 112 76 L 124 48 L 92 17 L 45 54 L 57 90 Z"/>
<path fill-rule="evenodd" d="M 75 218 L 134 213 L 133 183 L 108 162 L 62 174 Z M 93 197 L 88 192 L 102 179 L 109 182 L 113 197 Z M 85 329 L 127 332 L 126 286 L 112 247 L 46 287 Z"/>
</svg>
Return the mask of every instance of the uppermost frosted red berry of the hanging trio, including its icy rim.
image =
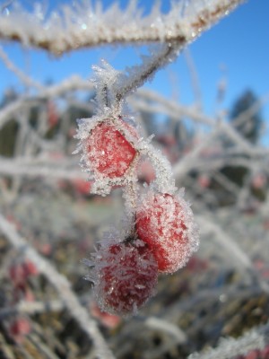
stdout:
<svg viewBox="0 0 269 359">
<path fill-rule="evenodd" d="M 80 119 L 78 126 L 80 144 L 75 153 L 82 152 L 82 168 L 93 180 L 91 193 L 107 195 L 111 187 L 123 186 L 128 177 L 134 177 L 139 155 L 134 126 L 108 110 L 103 117 Z"/>
</svg>

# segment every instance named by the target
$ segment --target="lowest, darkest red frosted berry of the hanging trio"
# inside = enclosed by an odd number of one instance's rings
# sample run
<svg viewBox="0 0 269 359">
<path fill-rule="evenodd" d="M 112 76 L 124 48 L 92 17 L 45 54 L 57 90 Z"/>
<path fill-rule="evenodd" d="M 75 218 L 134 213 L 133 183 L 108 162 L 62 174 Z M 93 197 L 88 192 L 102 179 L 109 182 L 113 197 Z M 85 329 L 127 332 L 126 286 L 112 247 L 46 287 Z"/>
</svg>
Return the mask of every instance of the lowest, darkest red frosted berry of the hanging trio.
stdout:
<svg viewBox="0 0 269 359">
<path fill-rule="evenodd" d="M 95 253 L 92 281 L 101 311 L 134 314 L 153 295 L 157 280 L 157 263 L 143 241 L 111 244 Z"/>
</svg>

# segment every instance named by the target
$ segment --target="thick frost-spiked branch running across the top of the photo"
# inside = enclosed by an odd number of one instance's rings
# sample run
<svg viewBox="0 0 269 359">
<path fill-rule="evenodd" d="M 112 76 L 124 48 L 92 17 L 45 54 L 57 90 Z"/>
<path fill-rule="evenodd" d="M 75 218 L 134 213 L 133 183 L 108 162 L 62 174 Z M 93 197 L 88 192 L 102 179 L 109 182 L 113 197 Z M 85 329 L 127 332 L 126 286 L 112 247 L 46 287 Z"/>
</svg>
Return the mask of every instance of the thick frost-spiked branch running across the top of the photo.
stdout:
<svg viewBox="0 0 269 359">
<path fill-rule="evenodd" d="M 57 56 L 115 43 L 169 42 L 183 48 L 240 3 L 242 0 L 192 0 L 186 5 L 178 1 L 166 14 L 157 3 L 149 15 L 143 16 L 134 0 L 123 10 L 119 4 L 104 10 L 100 2 L 94 5 L 86 1 L 63 6 L 48 19 L 40 5 L 27 13 L 14 4 L 10 11 L 0 14 L 0 39 L 43 48 Z"/>
</svg>

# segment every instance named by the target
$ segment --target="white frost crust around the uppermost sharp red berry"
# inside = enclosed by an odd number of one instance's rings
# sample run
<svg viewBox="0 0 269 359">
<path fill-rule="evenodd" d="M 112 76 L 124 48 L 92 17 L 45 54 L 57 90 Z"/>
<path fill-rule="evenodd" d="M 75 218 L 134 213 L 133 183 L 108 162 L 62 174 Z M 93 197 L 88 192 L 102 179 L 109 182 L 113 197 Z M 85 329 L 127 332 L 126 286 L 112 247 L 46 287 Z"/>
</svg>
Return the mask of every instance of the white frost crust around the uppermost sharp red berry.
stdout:
<svg viewBox="0 0 269 359">
<path fill-rule="evenodd" d="M 98 130 L 100 124 L 104 124 L 107 128 L 110 128 L 113 133 L 118 131 L 118 133 L 123 135 L 123 141 L 125 138 L 126 142 L 125 144 L 122 144 L 122 151 L 126 149 L 126 146 L 131 146 L 131 148 L 133 148 L 132 151 L 130 150 L 128 152 L 126 150 L 125 153 L 119 153 L 117 155 L 119 160 L 119 156 L 122 155 L 124 161 L 116 162 L 114 159 L 117 143 L 115 141 L 113 142 L 113 138 L 111 139 L 111 143 L 109 143 L 110 139 L 108 136 L 106 136 L 107 141 L 104 142 L 104 136 L 102 136 Z M 96 128 L 97 131 L 95 131 Z M 94 116 L 93 118 L 82 118 L 78 120 L 78 130 L 75 137 L 80 140 L 75 153 L 82 153 L 82 169 L 90 173 L 90 178 L 92 178 L 93 175 L 95 180 L 91 187 L 91 193 L 105 196 L 110 192 L 110 189 L 113 186 L 123 186 L 127 181 L 134 179 L 136 163 L 135 143 L 137 143 L 138 140 L 137 131 L 134 127 L 131 127 L 126 121 L 121 119 L 119 115 L 115 117 L 115 112 L 107 108 L 100 117 Z M 89 152 L 90 144 L 91 155 Z M 100 162 L 102 156 L 104 157 L 104 161 L 109 162 L 109 166 L 105 171 L 98 170 L 99 165 L 102 164 Z M 109 156 L 111 156 L 110 161 L 108 161 Z M 124 172 L 124 176 L 111 177 L 110 174 L 115 171 Z"/>
</svg>

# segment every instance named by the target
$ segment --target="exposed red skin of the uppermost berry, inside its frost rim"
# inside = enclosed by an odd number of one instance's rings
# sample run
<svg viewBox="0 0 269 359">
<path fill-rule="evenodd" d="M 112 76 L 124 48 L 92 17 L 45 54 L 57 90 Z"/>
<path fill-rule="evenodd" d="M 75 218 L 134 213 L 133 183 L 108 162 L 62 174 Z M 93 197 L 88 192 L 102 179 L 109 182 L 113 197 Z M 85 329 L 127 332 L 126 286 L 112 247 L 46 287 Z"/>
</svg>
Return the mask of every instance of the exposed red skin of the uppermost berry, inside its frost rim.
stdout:
<svg viewBox="0 0 269 359">
<path fill-rule="evenodd" d="M 119 121 L 122 127 L 134 134 L 134 127 L 121 119 Z M 101 122 L 91 130 L 87 151 L 93 172 L 109 179 L 124 176 L 136 154 L 133 145 L 108 121 Z"/>
</svg>

